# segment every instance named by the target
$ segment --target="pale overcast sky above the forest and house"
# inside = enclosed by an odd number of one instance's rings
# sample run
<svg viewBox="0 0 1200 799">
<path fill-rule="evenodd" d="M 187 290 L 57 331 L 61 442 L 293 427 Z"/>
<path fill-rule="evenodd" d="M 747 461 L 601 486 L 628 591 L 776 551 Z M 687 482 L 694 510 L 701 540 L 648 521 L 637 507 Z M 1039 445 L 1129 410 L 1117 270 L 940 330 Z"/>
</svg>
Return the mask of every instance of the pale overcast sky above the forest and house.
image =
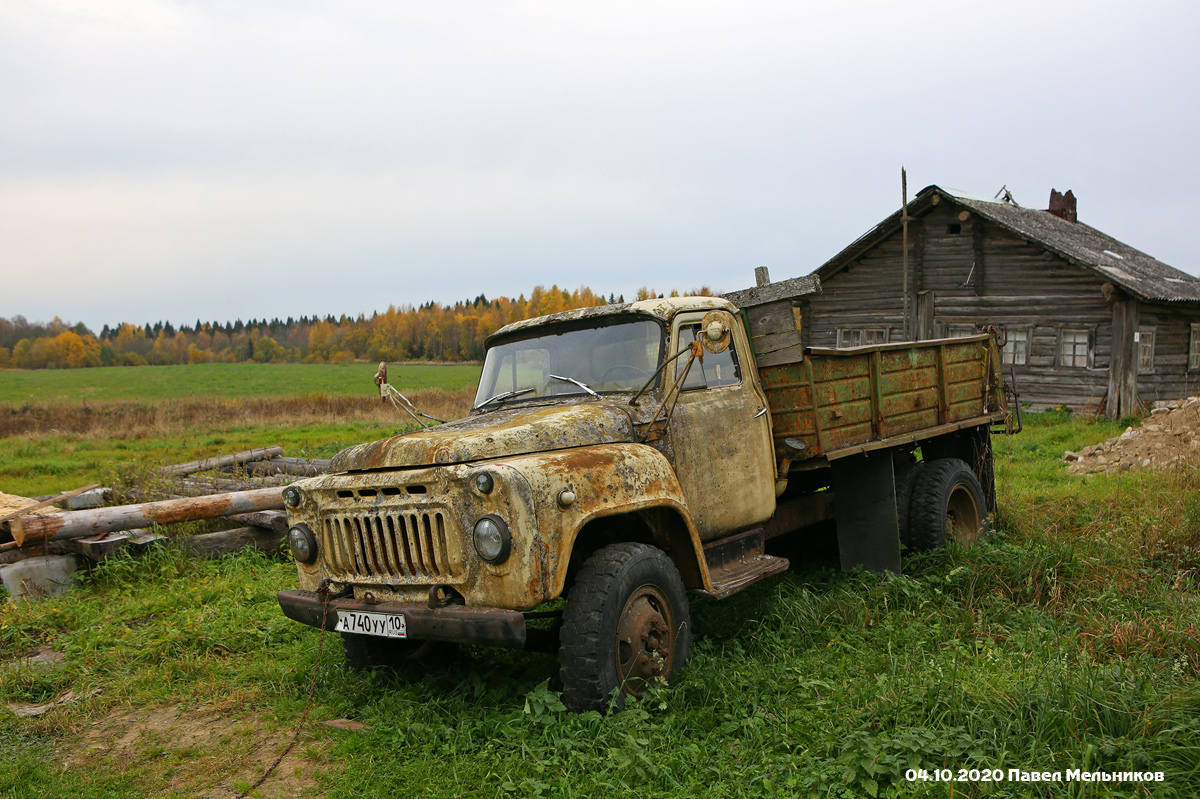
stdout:
<svg viewBox="0 0 1200 799">
<path fill-rule="evenodd" d="M 0 0 L 0 316 L 804 275 L 929 184 L 1200 272 L 1195 2 Z"/>
</svg>

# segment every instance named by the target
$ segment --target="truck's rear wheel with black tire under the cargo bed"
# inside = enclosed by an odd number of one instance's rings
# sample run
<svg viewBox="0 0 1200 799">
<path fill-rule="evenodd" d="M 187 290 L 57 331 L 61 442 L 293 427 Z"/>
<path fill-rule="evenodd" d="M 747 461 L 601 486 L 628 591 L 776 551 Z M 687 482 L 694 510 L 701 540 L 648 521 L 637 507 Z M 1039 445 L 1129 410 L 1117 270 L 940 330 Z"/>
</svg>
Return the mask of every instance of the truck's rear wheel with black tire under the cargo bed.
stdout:
<svg viewBox="0 0 1200 799">
<path fill-rule="evenodd" d="M 958 458 L 924 464 L 908 501 L 908 546 L 925 552 L 953 539 L 970 546 L 985 531 L 988 503 L 979 479 Z"/>
</svg>

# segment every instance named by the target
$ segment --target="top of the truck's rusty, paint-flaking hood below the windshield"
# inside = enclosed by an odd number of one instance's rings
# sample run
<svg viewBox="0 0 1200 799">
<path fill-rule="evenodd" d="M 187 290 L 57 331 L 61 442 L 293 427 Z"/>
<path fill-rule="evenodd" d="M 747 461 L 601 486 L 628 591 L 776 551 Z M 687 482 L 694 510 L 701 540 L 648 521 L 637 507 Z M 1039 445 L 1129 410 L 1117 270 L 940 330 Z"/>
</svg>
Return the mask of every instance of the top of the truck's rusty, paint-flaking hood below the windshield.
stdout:
<svg viewBox="0 0 1200 799">
<path fill-rule="evenodd" d="M 512 408 L 352 446 L 330 469 L 402 469 L 632 440 L 629 411 L 613 403 Z"/>
</svg>

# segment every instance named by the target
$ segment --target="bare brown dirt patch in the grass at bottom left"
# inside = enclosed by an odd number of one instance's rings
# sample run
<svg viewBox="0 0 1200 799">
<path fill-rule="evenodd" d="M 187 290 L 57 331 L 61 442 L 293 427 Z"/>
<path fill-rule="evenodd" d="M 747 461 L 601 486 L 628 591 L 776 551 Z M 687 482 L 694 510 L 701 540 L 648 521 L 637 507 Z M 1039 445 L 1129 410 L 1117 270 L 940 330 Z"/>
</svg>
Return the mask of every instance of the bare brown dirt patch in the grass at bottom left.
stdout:
<svg viewBox="0 0 1200 799">
<path fill-rule="evenodd" d="M 229 799 L 262 776 L 294 733 L 292 726 L 180 705 L 119 710 L 85 727 L 62 749 L 62 768 L 122 770 L 137 775 L 148 795 L 173 792 Z M 323 747 L 301 733 L 300 743 L 251 795 L 320 795 L 317 771 Z"/>
</svg>

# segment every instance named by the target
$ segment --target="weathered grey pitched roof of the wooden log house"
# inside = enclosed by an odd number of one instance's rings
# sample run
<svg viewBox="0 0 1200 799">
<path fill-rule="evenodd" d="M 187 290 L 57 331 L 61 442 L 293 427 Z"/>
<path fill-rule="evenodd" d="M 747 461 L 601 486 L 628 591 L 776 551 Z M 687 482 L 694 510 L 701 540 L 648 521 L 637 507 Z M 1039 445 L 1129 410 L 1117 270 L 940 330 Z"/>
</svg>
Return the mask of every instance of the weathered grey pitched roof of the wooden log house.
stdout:
<svg viewBox="0 0 1200 799">
<path fill-rule="evenodd" d="M 935 197 L 938 199 L 935 200 Z M 924 216 L 941 198 L 967 208 L 1026 241 L 1044 247 L 1076 266 L 1088 269 L 1102 280 L 1145 300 L 1200 301 L 1200 278 L 1169 266 L 1140 250 L 1134 250 L 1088 224 L 1068 222 L 1046 211 L 994 203 L 955 194 L 938 186 L 928 186 L 908 203 L 908 217 Z M 814 274 L 823 281 L 833 277 L 847 262 L 858 258 L 895 233 L 900 223 L 900 211 L 896 211 L 830 258 Z"/>
</svg>

